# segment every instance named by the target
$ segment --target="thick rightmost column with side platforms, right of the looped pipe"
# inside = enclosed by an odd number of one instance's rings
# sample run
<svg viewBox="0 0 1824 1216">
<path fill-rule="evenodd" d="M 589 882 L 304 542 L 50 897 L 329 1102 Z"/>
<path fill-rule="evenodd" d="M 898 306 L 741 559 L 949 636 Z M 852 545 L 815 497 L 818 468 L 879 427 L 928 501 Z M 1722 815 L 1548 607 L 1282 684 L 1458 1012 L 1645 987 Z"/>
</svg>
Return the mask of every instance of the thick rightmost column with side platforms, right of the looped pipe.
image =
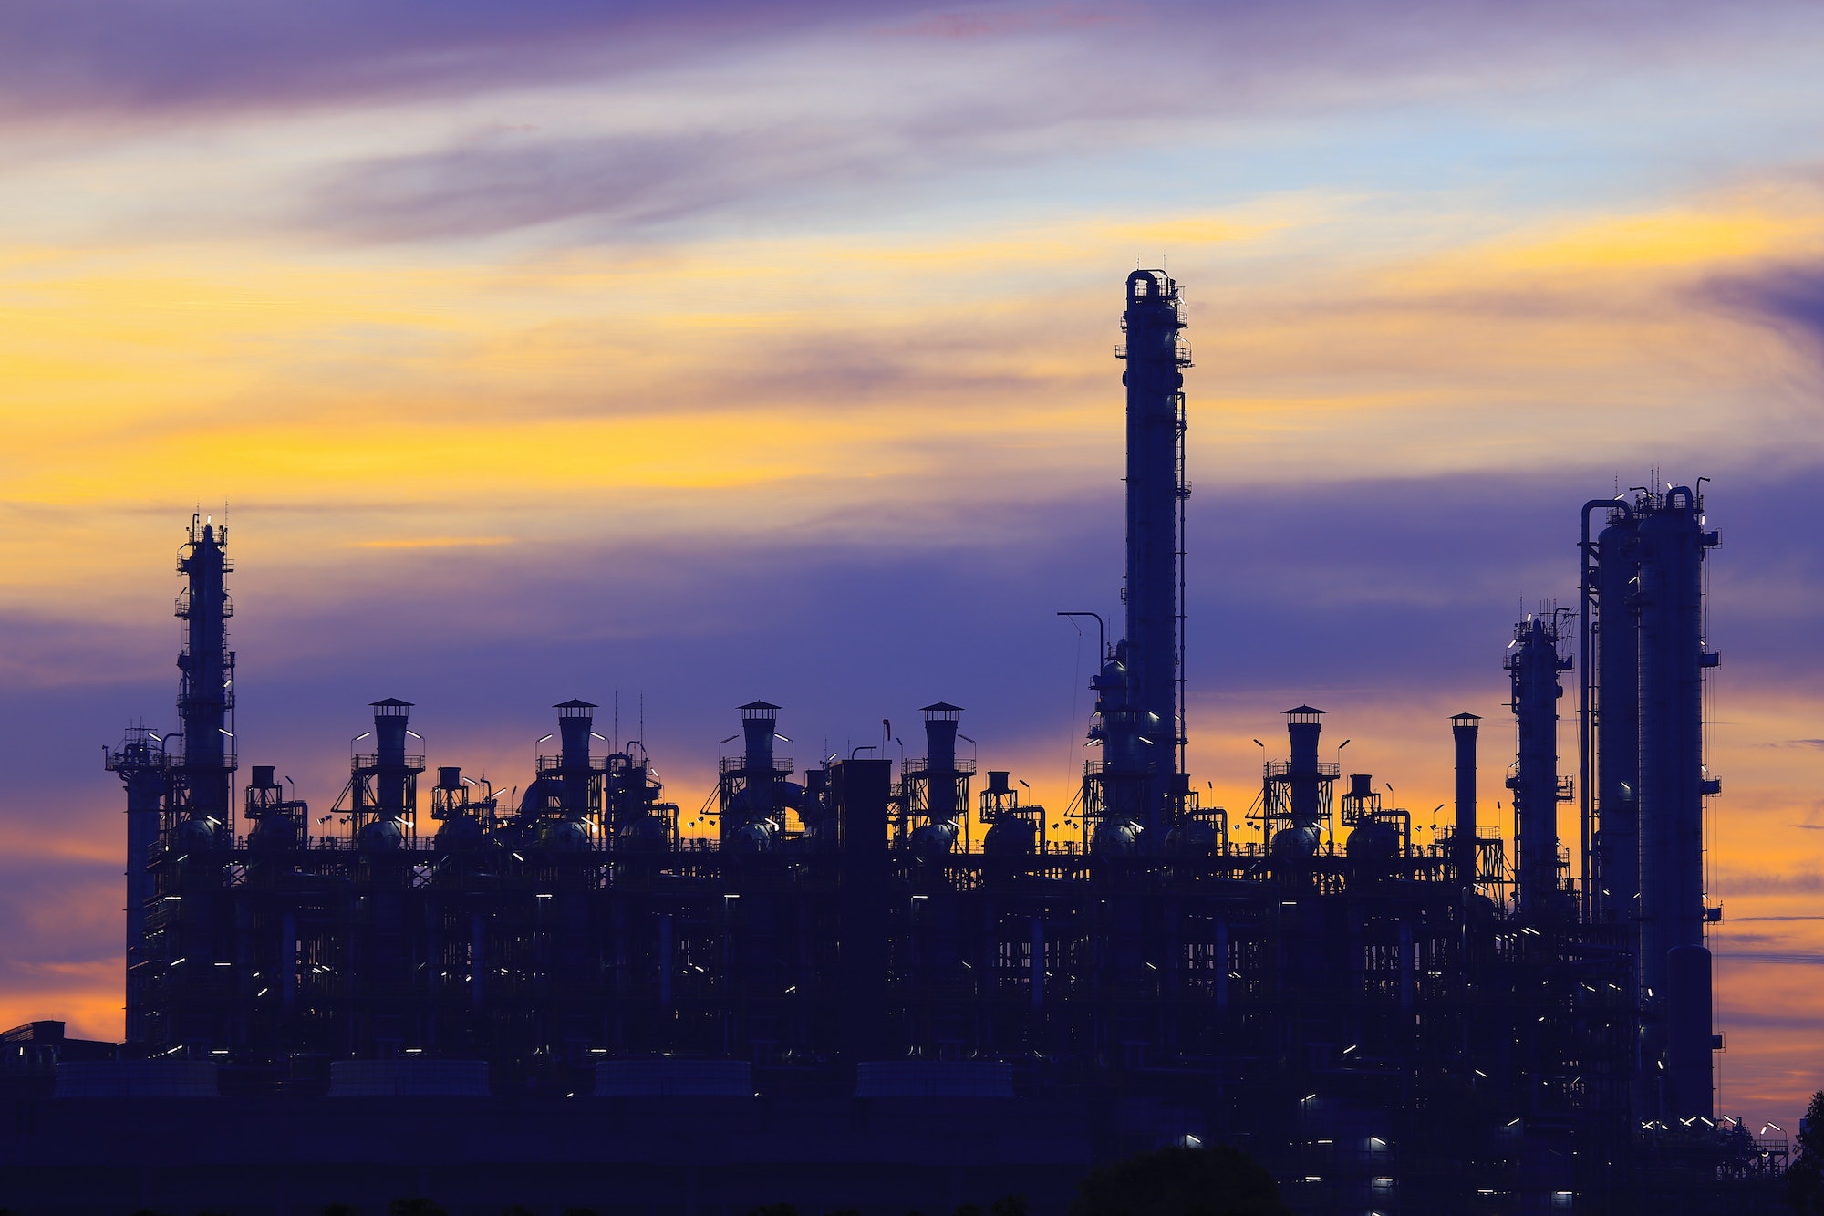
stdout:
<svg viewBox="0 0 1824 1216">
<path fill-rule="evenodd" d="M 1676 486 L 1640 511 L 1640 982 L 1645 1066 L 1663 1063 L 1660 1112 L 1711 1116 L 1711 959 L 1704 946 L 1702 506 Z M 1660 1054 L 1663 1052 L 1663 1061 Z"/>
</svg>

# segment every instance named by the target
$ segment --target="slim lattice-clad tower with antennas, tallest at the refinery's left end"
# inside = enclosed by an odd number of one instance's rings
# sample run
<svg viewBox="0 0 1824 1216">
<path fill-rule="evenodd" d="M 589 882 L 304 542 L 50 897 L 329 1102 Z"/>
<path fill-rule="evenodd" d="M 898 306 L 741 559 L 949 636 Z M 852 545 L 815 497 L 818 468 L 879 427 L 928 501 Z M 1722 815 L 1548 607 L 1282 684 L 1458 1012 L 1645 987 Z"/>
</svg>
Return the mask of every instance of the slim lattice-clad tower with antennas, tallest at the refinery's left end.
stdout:
<svg viewBox="0 0 1824 1216">
<path fill-rule="evenodd" d="M 177 655 L 184 750 L 171 765 L 171 803 L 181 820 L 199 823 L 188 833 L 197 844 L 219 838 L 233 807 L 228 789 L 235 770 L 233 652 L 228 650 L 233 604 L 223 584 L 233 561 L 226 546 L 226 526 L 192 515 L 190 540 L 177 553 L 177 571 L 188 579 L 177 617 L 188 628 Z"/>
</svg>

